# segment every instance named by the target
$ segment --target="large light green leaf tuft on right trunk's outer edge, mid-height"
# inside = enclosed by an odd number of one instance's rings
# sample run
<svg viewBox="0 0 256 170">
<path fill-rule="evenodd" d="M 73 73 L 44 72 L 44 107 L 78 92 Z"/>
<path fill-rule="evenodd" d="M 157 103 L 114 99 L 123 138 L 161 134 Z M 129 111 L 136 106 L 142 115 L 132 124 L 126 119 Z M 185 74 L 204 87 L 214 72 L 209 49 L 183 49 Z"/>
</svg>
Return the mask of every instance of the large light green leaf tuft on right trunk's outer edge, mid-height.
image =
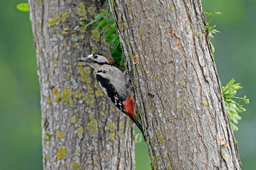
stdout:
<svg viewBox="0 0 256 170">
<path fill-rule="evenodd" d="M 245 108 L 240 105 L 240 101 L 243 101 L 244 103 L 249 103 L 249 99 L 244 97 L 237 97 L 235 96 L 238 89 L 242 89 L 242 86 L 240 84 L 234 84 L 235 79 L 231 79 L 227 85 L 222 87 L 223 91 L 223 98 L 225 101 L 225 106 L 227 108 L 228 117 L 230 118 L 230 124 L 233 130 L 238 130 L 238 127 L 235 124 L 238 124 L 238 120 L 241 119 L 240 115 L 238 113 L 242 113 L 245 110 Z"/>
</svg>

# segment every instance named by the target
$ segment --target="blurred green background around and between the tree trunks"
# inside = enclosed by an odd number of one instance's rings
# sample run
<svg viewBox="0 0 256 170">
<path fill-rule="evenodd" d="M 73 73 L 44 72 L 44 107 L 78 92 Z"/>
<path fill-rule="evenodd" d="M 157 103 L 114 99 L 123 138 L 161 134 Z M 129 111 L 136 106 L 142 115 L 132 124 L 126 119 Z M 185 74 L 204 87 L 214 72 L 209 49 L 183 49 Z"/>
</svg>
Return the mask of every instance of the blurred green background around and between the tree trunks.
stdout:
<svg viewBox="0 0 256 170">
<path fill-rule="evenodd" d="M 0 2 L 0 169 L 43 169 L 41 108 L 36 56 L 28 13 L 16 10 L 25 1 Z M 233 77 L 244 87 L 250 105 L 241 113 L 235 138 L 242 169 L 256 169 L 256 1 L 202 1 L 221 33 L 212 39 L 222 84 Z M 150 169 L 144 142 L 136 145 L 136 169 Z"/>
</svg>

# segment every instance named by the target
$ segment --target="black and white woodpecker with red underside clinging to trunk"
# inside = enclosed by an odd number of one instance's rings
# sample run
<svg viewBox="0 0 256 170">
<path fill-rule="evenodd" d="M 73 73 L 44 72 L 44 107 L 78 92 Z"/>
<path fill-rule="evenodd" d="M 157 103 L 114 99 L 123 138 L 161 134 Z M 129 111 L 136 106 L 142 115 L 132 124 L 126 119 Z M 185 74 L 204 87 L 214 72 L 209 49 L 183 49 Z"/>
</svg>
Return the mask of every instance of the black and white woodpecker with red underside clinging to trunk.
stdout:
<svg viewBox="0 0 256 170">
<path fill-rule="evenodd" d="M 100 53 L 79 58 L 77 61 L 85 62 L 95 69 L 97 83 L 102 91 L 120 111 L 132 119 L 143 134 L 142 124 L 134 114 L 134 98 L 132 98 L 129 92 L 129 77 L 127 72 L 124 71 L 122 73 L 117 67 L 112 66 L 107 61 L 107 58 Z"/>
</svg>

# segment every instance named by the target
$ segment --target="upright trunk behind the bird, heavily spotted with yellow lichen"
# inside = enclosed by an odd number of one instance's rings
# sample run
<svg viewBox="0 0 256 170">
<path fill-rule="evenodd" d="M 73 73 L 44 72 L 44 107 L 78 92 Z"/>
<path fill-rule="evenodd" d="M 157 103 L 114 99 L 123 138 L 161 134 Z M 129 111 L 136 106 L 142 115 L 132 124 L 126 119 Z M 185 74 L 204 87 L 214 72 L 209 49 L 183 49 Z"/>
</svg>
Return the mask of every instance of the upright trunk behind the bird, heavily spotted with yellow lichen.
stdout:
<svg viewBox="0 0 256 170">
<path fill-rule="evenodd" d="M 78 57 L 110 54 L 83 28 L 107 4 L 28 0 L 41 91 L 43 169 L 134 169 L 133 125 Z"/>
</svg>

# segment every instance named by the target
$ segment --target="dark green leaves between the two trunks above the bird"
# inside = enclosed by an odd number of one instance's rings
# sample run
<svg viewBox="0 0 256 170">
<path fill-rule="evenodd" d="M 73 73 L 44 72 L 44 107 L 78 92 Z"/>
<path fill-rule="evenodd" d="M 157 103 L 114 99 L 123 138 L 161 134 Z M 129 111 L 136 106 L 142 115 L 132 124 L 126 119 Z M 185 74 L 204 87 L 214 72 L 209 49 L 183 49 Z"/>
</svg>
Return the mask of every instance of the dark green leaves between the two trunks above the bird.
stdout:
<svg viewBox="0 0 256 170">
<path fill-rule="evenodd" d="M 82 24 L 82 23 L 81 23 Z M 112 13 L 99 13 L 95 20 L 88 23 L 86 26 L 95 25 L 96 28 L 93 31 L 97 31 L 97 28 L 102 28 L 100 31 L 100 35 L 104 33 L 104 40 L 109 45 L 112 45 L 111 47 L 111 57 L 117 61 L 117 64 L 120 66 L 124 66 L 124 60 L 122 60 L 122 47 L 120 44 L 119 37 L 117 35 L 117 31 L 114 27 L 114 18 L 112 16 Z"/>
</svg>

